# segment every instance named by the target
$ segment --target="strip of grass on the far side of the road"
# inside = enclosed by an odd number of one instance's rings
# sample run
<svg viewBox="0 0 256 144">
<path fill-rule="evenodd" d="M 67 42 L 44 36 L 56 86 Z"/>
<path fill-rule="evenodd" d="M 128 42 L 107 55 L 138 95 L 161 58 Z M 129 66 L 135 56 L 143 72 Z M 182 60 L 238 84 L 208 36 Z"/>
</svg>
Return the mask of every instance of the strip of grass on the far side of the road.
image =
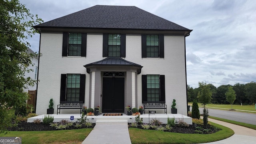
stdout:
<svg viewBox="0 0 256 144">
<path fill-rule="evenodd" d="M 188 104 L 192 105 L 191 102 L 189 102 Z M 198 106 L 203 106 L 203 105 L 201 103 L 198 103 Z M 207 104 L 206 107 L 231 109 L 231 104 Z M 241 106 L 241 105 L 233 104 L 232 108 L 235 110 L 250 110 L 250 111 L 256 112 L 255 105 Z"/>
</svg>

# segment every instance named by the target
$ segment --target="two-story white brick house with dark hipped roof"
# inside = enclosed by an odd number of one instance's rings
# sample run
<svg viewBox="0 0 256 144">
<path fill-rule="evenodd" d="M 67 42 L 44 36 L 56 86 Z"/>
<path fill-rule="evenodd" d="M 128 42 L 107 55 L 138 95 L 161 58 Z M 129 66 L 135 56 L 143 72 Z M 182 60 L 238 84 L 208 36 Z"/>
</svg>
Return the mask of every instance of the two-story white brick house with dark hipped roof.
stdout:
<svg viewBox="0 0 256 144">
<path fill-rule="evenodd" d="M 165 101 L 187 115 L 185 37 L 192 30 L 135 6 L 93 6 L 34 26 L 40 31 L 36 113 L 60 100 L 125 113 Z M 157 110 L 164 113 L 164 110 Z M 61 114 L 79 113 L 61 110 Z"/>
</svg>

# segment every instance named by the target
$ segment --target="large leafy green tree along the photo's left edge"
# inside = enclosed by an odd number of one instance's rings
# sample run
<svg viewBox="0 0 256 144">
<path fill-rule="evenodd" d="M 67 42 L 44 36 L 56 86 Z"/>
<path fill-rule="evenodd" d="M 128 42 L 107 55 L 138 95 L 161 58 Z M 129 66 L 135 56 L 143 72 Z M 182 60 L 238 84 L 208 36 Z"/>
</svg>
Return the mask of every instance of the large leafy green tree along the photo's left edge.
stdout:
<svg viewBox="0 0 256 144">
<path fill-rule="evenodd" d="M 0 132 L 11 125 L 7 109 L 26 106 L 28 93 L 23 89 L 35 83 L 24 78 L 34 56 L 27 52 L 26 39 L 37 32 L 32 26 L 41 22 L 18 0 L 0 0 Z"/>
</svg>

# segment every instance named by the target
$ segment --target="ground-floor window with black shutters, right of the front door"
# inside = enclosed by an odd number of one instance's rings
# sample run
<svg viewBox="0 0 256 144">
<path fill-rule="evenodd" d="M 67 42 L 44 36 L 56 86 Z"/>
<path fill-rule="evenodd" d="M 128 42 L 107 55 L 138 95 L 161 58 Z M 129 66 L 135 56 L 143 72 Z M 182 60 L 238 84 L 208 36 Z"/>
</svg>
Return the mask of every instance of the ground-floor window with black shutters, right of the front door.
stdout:
<svg viewBox="0 0 256 144">
<path fill-rule="evenodd" d="M 165 101 L 165 76 L 158 74 L 142 75 L 142 102 Z"/>
</svg>

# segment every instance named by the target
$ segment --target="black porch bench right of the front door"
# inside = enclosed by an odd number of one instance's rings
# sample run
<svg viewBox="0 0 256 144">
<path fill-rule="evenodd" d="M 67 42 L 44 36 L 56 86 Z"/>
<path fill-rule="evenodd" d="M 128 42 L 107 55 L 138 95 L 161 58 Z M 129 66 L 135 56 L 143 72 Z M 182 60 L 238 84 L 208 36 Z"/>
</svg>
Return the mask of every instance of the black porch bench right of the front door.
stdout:
<svg viewBox="0 0 256 144">
<path fill-rule="evenodd" d="M 156 102 L 143 101 L 143 106 L 144 106 L 144 114 L 145 114 L 145 109 L 164 109 L 164 113 L 167 114 L 167 105 L 165 104 L 164 101 L 156 101 Z"/>
</svg>

